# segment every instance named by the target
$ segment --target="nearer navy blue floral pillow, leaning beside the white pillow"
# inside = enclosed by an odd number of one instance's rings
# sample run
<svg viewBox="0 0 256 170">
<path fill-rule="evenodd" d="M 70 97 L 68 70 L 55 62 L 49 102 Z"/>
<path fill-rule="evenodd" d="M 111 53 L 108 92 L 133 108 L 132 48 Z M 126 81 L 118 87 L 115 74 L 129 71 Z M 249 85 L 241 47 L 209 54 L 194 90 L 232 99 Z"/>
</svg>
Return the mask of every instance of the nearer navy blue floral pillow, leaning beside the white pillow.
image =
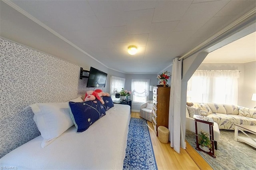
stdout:
<svg viewBox="0 0 256 170">
<path fill-rule="evenodd" d="M 99 100 L 84 102 L 69 102 L 70 116 L 77 128 L 77 132 L 83 132 L 94 122 L 106 115 L 105 107 Z"/>
</svg>

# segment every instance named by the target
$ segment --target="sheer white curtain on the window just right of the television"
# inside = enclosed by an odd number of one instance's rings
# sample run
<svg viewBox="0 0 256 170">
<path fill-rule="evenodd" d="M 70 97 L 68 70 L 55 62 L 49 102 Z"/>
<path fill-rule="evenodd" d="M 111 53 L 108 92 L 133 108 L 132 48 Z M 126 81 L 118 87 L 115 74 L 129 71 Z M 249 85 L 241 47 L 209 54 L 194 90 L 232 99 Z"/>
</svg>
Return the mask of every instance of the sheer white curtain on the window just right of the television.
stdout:
<svg viewBox="0 0 256 170">
<path fill-rule="evenodd" d="M 111 76 L 110 77 L 110 95 L 119 93 L 124 88 L 125 79 L 121 77 Z"/>
</svg>

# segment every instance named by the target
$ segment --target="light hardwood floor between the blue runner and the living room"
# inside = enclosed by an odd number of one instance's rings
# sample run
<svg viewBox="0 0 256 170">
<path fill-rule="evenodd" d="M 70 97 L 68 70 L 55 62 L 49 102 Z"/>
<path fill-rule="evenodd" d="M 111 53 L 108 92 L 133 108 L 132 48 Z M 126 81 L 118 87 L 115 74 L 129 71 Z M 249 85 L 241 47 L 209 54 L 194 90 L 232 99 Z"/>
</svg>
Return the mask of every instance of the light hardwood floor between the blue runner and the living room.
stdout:
<svg viewBox="0 0 256 170">
<path fill-rule="evenodd" d="M 132 112 L 131 117 L 142 119 L 140 113 L 136 112 Z M 152 123 L 150 121 L 147 123 L 158 170 L 212 170 L 187 141 L 186 150 L 180 148 L 180 154 L 178 154 L 170 147 L 170 142 L 168 144 L 161 143 L 156 137 Z"/>
</svg>

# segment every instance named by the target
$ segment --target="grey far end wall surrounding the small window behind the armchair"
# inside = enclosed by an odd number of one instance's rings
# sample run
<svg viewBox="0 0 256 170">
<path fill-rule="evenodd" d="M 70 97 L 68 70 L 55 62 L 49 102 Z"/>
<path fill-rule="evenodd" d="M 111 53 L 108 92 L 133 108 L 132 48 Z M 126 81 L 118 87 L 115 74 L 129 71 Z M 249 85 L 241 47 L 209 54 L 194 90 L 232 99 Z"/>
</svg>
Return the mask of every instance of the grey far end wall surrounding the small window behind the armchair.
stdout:
<svg viewBox="0 0 256 170">
<path fill-rule="evenodd" d="M 150 85 L 157 85 L 155 74 L 126 74 L 124 89 L 131 91 L 132 79 L 150 79 Z M 153 92 L 149 92 L 149 100 L 153 100 Z M 132 111 L 140 111 L 141 103 L 132 103 Z"/>
</svg>

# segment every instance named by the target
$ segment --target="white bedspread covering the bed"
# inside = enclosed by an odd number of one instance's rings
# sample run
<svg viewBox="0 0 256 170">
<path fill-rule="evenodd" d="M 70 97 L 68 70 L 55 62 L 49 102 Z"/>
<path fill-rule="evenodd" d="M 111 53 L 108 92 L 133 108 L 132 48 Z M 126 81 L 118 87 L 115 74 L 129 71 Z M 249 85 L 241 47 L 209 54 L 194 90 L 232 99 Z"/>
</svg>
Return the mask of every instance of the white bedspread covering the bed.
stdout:
<svg viewBox="0 0 256 170">
<path fill-rule="evenodd" d="M 122 169 L 130 123 L 130 107 L 115 104 L 82 133 L 72 126 L 41 148 L 42 136 L 0 159 L 1 167 L 17 169 Z"/>
</svg>

